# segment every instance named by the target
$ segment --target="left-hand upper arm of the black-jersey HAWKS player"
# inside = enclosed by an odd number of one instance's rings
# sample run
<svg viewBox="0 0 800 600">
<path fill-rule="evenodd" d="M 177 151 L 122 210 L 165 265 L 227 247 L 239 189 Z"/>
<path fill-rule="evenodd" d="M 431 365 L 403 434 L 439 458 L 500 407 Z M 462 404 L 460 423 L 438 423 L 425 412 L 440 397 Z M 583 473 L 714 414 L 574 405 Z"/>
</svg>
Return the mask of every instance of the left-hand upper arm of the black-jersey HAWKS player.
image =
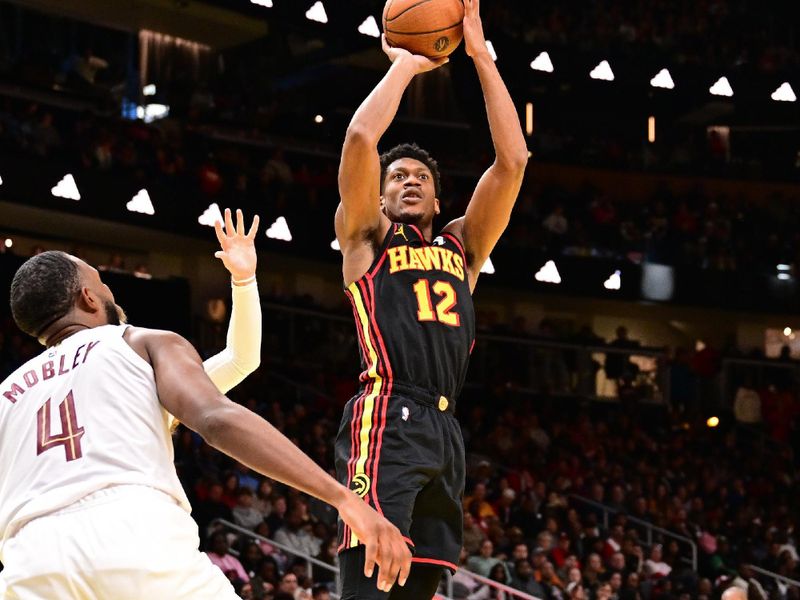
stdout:
<svg viewBox="0 0 800 600">
<path fill-rule="evenodd" d="M 366 134 L 348 130 L 339 164 L 341 219 L 336 235 L 350 239 L 378 228 L 380 211 L 380 158 L 375 142 Z"/>
</svg>

